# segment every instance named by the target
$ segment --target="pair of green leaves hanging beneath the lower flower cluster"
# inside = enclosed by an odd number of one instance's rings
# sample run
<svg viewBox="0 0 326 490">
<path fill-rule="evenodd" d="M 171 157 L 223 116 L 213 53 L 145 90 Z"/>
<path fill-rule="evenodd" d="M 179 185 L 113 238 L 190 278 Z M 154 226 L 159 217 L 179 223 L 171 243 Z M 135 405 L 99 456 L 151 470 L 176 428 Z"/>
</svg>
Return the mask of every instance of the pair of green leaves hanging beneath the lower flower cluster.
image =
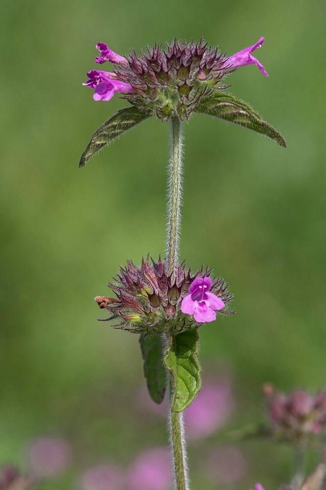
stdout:
<svg viewBox="0 0 326 490">
<path fill-rule="evenodd" d="M 144 374 L 148 391 L 154 402 L 164 399 L 167 384 L 167 369 L 170 373 L 171 410 L 183 412 L 195 399 L 201 387 L 200 366 L 196 359 L 198 333 L 191 328 L 177 335 L 171 335 L 165 353 L 163 339 L 159 334 L 140 336 L 140 346 L 144 359 Z"/>
</svg>

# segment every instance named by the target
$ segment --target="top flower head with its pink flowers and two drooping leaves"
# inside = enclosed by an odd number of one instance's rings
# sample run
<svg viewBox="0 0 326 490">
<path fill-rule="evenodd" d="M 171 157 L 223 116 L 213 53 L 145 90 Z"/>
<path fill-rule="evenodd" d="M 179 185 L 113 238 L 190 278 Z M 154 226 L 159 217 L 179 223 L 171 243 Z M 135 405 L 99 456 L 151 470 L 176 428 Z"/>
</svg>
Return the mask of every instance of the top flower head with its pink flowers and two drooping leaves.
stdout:
<svg viewBox="0 0 326 490">
<path fill-rule="evenodd" d="M 104 43 L 96 48 L 100 56 L 96 62 L 107 61 L 114 64 L 113 72 L 91 70 L 84 83 L 94 89 L 94 100 L 110 100 L 115 92 L 123 95 L 131 107 L 121 109 L 111 116 L 93 134 L 87 149 L 80 160 L 83 167 L 87 160 L 101 148 L 111 143 L 120 134 L 149 117 L 158 117 L 162 121 L 177 118 L 188 120 L 194 113 L 209 114 L 231 123 L 253 129 L 286 147 L 283 136 L 249 104 L 225 92 L 229 85 L 222 79 L 233 73 L 238 67 L 256 64 L 261 73 L 268 76 L 261 63 L 252 55 L 261 48 L 262 37 L 258 43 L 227 57 L 218 48 L 208 47 L 201 39 L 199 44 L 193 41 L 167 44 L 164 51 L 161 46 L 141 51 L 138 57 L 135 51 L 129 56 L 120 56 L 111 51 Z"/>
</svg>

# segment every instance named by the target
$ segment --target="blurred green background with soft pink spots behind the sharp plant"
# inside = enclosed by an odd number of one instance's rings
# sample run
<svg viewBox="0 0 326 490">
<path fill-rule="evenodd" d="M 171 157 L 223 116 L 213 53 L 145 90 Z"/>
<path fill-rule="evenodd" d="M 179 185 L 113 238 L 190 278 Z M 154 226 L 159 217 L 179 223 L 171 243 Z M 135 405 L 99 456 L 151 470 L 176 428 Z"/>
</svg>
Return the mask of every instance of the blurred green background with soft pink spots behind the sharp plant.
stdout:
<svg viewBox="0 0 326 490">
<path fill-rule="evenodd" d="M 82 82 L 99 41 L 124 54 L 203 36 L 233 54 L 265 36 L 269 77 L 243 67 L 229 90 L 288 148 L 208 116 L 184 127 L 180 256 L 224 277 L 238 312 L 201 328 L 207 398 L 187 434 L 193 490 L 289 480 L 290 448 L 223 434 L 264 420 L 265 381 L 326 388 L 325 23 L 322 0 L 2 0 L 0 463 L 51 477 L 40 489 L 151 490 L 135 482 L 166 461 L 164 409 L 137 337 L 97 322 L 93 297 L 127 258 L 164 253 L 169 127 L 148 120 L 78 170 L 126 105 Z"/>
</svg>

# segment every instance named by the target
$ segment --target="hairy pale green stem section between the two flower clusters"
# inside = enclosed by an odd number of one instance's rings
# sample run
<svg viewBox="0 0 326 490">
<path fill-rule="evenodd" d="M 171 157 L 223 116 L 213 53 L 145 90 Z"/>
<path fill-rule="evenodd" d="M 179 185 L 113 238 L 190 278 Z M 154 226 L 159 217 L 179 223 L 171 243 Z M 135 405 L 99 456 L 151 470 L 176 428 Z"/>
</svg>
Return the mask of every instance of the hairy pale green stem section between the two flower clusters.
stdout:
<svg viewBox="0 0 326 490">
<path fill-rule="evenodd" d="M 172 274 L 178 260 L 178 242 L 182 203 L 182 131 L 178 117 L 172 118 L 171 157 L 169 165 L 168 204 L 168 273 Z"/>
</svg>

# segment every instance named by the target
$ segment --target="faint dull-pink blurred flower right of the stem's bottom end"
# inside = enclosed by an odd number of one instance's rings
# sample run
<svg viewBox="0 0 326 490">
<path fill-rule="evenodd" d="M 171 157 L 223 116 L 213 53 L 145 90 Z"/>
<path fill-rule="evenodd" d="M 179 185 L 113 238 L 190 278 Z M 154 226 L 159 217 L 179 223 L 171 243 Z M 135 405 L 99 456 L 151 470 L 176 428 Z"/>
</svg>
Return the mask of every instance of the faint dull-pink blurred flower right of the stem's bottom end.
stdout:
<svg viewBox="0 0 326 490">
<path fill-rule="evenodd" d="M 244 455 L 233 446 L 214 448 L 207 463 L 206 476 L 214 485 L 232 484 L 242 480 L 248 469 Z"/>
</svg>

